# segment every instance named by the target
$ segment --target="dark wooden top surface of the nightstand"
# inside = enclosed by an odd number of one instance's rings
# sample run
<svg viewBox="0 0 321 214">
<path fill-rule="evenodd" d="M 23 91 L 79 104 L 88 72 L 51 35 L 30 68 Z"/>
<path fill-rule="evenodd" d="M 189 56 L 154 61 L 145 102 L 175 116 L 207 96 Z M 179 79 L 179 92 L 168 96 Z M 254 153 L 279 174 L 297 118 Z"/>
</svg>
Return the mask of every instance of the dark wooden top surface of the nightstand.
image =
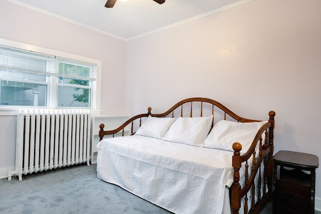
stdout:
<svg viewBox="0 0 321 214">
<path fill-rule="evenodd" d="M 302 168 L 319 167 L 319 158 L 316 155 L 295 151 L 280 150 L 274 155 L 273 161 Z"/>
</svg>

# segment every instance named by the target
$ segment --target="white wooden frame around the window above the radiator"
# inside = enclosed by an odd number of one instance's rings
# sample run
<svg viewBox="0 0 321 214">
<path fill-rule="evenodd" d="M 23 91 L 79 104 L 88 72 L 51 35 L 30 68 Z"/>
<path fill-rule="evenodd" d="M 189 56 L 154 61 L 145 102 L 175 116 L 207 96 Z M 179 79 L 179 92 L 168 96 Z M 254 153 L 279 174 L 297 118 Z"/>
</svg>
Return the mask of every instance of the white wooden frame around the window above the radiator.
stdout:
<svg viewBox="0 0 321 214">
<path fill-rule="evenodd" d="M 65 53 L 62 51 L 57 51 L 53 49 L 48 49 L 48 48 L 43 48 L 43 47 L 38 47 L 34 45 L 29 45 L 21 42 L 16 42 L 16 41 L 11 41 L 7 39 L 0 38 L 0 45 L 3 46 L 8 46 L 16 49 L 21 49 L 21 50 L 26 50 L 26 51 L 31 51 L 31 52 L 36 52 L 39 54 L 44 54 L 44 55 L 51 55 L 51 56 L 57 56 L 59 58 L 64 58 L 72 61 L 78 61 L 78 62 L 84 62 L 88 64 L 95 64 L 96 69 L 94 69 L 94 78 L 95 81 L 92 81 L 92 90 L 91 90 L 91 95 L 92 95 L 92 105 L 91 107 L 88 108 L 81 108 L 81 109 L 91 109 L 92 111 L 97 110 L 100 111 L 100 86 L 101 86 L 101 60 L 93 59 L 93 58 L 88 58 L 84 56 L 79 56 L 75 54 L 70 54 L 70 53 Z M 49 76 L 52 76 L 52 74 L 49 74 Z M 50 78 L 50 83 L 51 87 L 47 88 L 47 106 L 1 106 L 1 109 L 4 110 L 17 110 L 17 109 L 31 109 L 31 108 L 44 108 L 44 109 L 65 109 L 65 108 L 77 108 L 77 107 L 58 107 L 58 77 L 56 75 L 52 76 Z M 67 85 L 67 83 L 66 83 Z M 77 85 L 74 85 L 77 86 Z M 93 96 L 95 95 L 95 96 Z M 54 99 L 55 98 L 55 99 Z"/>
</svg>

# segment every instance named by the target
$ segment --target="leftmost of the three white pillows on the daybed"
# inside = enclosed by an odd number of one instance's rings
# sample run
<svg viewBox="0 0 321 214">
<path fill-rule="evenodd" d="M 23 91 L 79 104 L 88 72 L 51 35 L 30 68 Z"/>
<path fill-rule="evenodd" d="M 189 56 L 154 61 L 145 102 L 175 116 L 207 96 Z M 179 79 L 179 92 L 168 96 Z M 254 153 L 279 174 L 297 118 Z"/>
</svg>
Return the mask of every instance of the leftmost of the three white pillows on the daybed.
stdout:
<svg viewBox="0 0 321 214">
<path fill-rule="evenodd" d="M 135 135 L 162 139 L 176 119 L 170 117 L 151 117 L 149 115 L 146 121 L 138 128 Z"/>
</svg>

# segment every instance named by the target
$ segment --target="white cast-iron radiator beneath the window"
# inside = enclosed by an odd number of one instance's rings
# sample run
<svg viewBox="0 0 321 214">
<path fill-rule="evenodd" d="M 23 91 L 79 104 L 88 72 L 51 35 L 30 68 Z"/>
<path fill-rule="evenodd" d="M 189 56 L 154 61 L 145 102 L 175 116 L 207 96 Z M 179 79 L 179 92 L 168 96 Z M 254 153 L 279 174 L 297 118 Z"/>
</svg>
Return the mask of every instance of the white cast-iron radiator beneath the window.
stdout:
<svg viewBox="0 0 321 214">
<path fill-rule="evenodd" d="M 90 161 L 89 110 L 23 110 L 17 123 L 16 169 L 37 173 Z"/>
</svg>

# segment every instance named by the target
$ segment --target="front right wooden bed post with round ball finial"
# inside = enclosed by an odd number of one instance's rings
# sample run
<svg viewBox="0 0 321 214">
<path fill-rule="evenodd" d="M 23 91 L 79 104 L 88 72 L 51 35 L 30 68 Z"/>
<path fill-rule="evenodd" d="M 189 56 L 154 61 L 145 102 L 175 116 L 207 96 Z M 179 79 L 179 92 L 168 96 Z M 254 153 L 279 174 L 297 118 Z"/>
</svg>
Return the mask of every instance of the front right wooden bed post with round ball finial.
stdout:
<svg viewBox="0 0 321 214">
<path fill-rule="evenodd" d="M 233 184 L 231 186 L 231 194 L 233 195 L 231 206 L 233 208 L 233 214 L 239 213 L 239 209 L 241 207 L 241 185 L 240 181 L 240 168 L 242 165 L 242 159 L 240 157 L 240 151 L 242 149 L 242 145 L 238 142 L 233 143 L 232 148 L 234 150 L 234 155 L 232 157 L 232 166 L 234 168 L 233 174 Z"/>
</svg>

